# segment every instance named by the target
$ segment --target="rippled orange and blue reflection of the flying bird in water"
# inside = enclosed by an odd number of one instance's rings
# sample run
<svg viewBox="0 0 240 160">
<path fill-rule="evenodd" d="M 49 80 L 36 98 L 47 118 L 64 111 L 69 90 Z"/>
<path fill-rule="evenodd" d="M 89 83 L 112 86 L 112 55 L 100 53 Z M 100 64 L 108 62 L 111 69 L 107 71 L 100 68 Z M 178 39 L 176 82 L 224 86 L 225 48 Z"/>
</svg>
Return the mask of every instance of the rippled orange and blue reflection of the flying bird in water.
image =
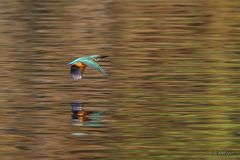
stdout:
<svg viewBox="0 0 240 160">
<path fill-rule="evenodd" d="M 72 124 L 77 126 L 99 127 L 101 126 L 101 114 L 99 111 L 89 111 L 83 109 L 83 103 L 72 102 Z"/>
</svg>

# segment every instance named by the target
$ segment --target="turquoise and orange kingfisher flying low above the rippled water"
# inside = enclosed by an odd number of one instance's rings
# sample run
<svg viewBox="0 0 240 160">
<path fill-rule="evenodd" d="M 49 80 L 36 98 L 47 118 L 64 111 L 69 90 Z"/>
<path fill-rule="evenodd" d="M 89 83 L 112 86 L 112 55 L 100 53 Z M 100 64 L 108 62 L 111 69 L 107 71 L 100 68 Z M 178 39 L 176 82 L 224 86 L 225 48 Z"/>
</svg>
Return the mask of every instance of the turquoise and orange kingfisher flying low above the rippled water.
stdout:
<svg viewBox="0 0 240 160">
<path fill-rule="evenodd" d="M 108 73 L 97 63 L 97 61 L 106 57 L 108 56 L 91 55 L 91 56 L 77 58 L 74 61 L 68 63 L 69 65 L 71 65 L 70 72 L 71 72 L 72 78 L 74 80 L 82 79 L 83 72 L 87 66 L 97 70 L 98 72 L 104 75 L 108 75 Z"/>
</svg>

